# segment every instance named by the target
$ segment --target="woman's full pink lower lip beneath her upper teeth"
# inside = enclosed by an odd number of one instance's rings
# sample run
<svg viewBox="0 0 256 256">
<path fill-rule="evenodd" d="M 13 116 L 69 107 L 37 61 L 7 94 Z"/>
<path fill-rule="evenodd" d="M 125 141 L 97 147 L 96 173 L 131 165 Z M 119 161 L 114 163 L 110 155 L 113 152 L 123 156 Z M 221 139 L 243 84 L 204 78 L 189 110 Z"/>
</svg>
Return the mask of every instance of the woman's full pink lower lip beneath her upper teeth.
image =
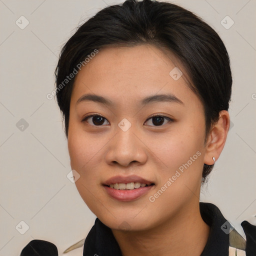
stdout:
<svg viewBox="0 0 256 256">
<path fill-rule="evenodd" d="M 119 201 L 131 201 L 139 198 L 140 196 L 146 194 L 153 185 L 144 186 L 134 189 L 114 189 L 109 186 L 104 185 L 106 192 L 113 198 Z"/>
</svg>

